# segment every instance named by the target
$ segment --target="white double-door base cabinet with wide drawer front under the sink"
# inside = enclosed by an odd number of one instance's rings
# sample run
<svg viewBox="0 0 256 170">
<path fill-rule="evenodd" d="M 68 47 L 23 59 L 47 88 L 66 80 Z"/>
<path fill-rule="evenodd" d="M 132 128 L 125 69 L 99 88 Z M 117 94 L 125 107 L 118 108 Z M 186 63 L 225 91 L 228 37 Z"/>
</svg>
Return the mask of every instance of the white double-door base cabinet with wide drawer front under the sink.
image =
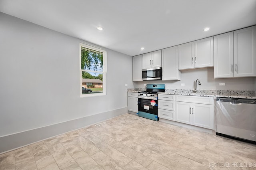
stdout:
<svg viewBox="0 0 256 170">
<path fill-rule="evenodd" d="M 176 95 L 175 98 L 176 122 L 213 129 L 212 97 Z"/>
</svg>

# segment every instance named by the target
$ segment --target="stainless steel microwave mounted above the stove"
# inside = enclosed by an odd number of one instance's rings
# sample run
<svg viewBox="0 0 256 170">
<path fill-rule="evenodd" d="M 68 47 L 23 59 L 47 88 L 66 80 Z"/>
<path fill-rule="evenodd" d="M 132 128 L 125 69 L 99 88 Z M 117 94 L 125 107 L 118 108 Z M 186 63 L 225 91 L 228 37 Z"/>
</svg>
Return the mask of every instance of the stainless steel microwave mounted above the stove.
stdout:
<svg viewBox="0 0 256 170">
<path fill-rule="evenodd" d="M 142 80 L 161 80 L 162 67 L 142 69 Z"/>
</svg>

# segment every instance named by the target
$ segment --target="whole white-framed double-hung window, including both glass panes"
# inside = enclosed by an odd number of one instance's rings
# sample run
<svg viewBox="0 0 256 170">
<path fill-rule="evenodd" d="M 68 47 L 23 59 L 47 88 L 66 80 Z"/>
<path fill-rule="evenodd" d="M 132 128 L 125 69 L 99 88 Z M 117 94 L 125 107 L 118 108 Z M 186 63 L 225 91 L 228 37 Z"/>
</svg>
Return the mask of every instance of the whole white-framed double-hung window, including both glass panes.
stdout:
<svg viewBox="0 0 256 170">
<path fill-rule="evenodd" d="M 106 95 L 106 51 L 80 43 L 80 97 Z"/>
</svg>

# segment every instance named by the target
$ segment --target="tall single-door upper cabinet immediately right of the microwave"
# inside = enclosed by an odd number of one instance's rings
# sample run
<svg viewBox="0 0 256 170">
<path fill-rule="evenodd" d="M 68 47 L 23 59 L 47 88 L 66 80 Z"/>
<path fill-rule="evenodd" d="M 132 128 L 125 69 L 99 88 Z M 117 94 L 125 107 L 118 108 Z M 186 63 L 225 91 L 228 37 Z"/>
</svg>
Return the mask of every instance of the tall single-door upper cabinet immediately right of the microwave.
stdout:
<svg viewBox="0 0 256 170">
<path fill-rule="evenodd" d="M 180 80 L 178 46 L 162 49 L 162 80 Z"/>
</svg>

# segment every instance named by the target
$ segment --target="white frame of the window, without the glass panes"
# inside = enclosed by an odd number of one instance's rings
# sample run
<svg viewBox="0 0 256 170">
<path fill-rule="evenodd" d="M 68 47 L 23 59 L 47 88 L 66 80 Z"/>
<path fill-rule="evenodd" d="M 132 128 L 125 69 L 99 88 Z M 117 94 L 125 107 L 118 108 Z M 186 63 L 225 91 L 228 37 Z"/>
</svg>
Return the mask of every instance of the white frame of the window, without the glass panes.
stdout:
<svg viewBox="0 0 256 170">
<path fill-rule="evenodd" d="M 82 71 L 88 71 L 88 70 L 84 70 L 81 69 L 81 47 L 86 47 L 89 49 L 93 49 L 96 51 L 100 51 L 103 53 L 103 72 L 102 71 L 90 71 L 90 72 L 96 72 L 96 73 L 102 73 L 103 75 L 103 92 L 102 93 L 90 93 L 90 94 L 82 94 Z M 79 44 L 79 79 L 80 79 L 80 97 L 94 97 L 94 96 L 103 96 L 106 95 L 106 74 L 107 74 L 107 69 L 106 69 L 106 65 L 107 65 L 107 51 L 98 47 L 94 47 L 92 45 L 88 45 L 85 43 L 80 43 Z"/>
</svg>

